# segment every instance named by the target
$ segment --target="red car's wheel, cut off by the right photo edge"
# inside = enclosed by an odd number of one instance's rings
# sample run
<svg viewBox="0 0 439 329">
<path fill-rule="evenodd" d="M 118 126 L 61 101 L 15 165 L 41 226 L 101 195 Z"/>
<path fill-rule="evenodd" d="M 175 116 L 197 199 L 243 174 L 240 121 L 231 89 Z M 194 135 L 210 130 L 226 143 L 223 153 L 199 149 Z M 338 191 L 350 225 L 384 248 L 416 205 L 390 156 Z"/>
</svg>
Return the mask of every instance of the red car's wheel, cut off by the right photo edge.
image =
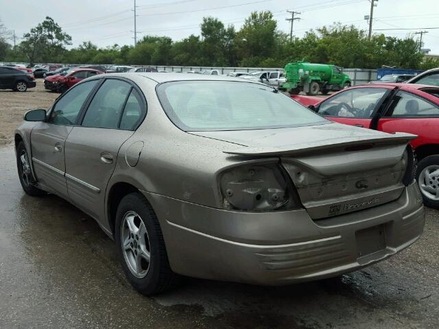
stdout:
<svg viewBox="0 0 439 329">
<path fill-rule="evenodd" d="M 418 162 L 416 181 L 425 206 L 439 209 L 439 155 L 427 156 Z"/>
</svg>

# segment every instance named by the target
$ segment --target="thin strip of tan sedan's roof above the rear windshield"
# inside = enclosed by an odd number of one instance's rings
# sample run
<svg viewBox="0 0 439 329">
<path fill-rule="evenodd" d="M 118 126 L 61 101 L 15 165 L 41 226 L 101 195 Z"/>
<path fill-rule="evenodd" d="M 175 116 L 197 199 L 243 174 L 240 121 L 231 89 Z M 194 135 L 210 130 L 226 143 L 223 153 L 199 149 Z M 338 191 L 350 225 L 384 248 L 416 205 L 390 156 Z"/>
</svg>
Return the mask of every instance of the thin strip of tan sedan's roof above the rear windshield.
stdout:
<svg viewBox="0 0 439 329">
<path fill-rule="evenodd" d="M 126 77 L 130 80 L 137 80 L 139 77 L 145 77 L 161 84 L 163 82 L 171 81 L 195 81 L 195 80 L 211 80 L 211 81 L 235 81 L 247 82 L 247 80 L 240 77 L 230 77 L 227 75 L 202 75 L 202 74 L 181 74 L 181 73 L 160 73 L 160 72 L 137 72 L 137 73 L 106 73 L 104 76 L 109 77 Z M 102 75 L 100 76 L 102 77 Z M 266 84 L 263 84 L 267 86 Z"/>
</svg>

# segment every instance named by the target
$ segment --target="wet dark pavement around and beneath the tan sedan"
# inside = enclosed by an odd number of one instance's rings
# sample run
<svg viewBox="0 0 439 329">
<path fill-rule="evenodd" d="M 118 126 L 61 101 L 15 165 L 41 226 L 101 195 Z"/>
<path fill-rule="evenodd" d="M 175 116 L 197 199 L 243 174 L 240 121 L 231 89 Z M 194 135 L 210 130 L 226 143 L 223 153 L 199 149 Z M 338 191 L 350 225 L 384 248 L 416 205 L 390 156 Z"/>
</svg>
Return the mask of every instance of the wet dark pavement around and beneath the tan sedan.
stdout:
<svg viewBox="0 0 439 329">
<path fill-rule="evenodd" d="M 438 328 L 439 211 L 409 249 L 339 278 L 289 287 L 188 279 L 144 297 L 112 241 L 64 200 L 29 197 L 0 149 L 0 328 Z"/>
</svg>

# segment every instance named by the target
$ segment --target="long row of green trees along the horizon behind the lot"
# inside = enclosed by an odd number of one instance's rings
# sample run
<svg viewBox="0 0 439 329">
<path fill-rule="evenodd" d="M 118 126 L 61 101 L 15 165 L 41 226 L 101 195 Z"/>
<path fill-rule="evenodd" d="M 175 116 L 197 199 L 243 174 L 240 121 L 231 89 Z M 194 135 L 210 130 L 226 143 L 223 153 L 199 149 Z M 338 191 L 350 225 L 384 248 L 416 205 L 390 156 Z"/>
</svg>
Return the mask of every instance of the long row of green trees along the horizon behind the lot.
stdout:
<svg viewBox="0 0 439 329">
<path fill-rule="evenodd" d="M 346 68 L 377 69 L 382 65 L 404 69 L 430 69 L 439 60 L 424 58 L 414 35 L 405 38 L 374 34 L 337 23 L 311 29 L 302 38 L 280 31 L 270 11 L 252 12 L 241 29 L 204 17 L 201 34 L 183 40 L 167 36 L 144 36 L 136 47 L 112 45 L 99 48 L 91 41 L 78 47 L 60 25 L 45 21 L 23 35 L 13 47 L 10 32 L 0 22 L 0 61 L 60 62 L 64 64 L 132 64 L 176 66 L 283 67 L 288 62 L 335 64 Z"/>
</svg>

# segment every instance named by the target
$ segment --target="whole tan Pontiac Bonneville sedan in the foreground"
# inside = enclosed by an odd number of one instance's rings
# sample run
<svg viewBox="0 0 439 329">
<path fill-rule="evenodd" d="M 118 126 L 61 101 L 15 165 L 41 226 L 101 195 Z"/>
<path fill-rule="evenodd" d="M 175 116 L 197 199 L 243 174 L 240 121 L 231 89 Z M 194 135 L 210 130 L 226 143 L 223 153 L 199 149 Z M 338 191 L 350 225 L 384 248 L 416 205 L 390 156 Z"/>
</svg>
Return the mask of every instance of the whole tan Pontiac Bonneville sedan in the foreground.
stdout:
<svg viewBox="0 0 439 329">
<path fill-rule="evenodd" d="M 146 295 L 178 274 L 338 276 L 423 232 L 416 136 L 333 123 L 257 82 L 96 75 L 25 119 L 15 132 L 25 193 L 54 193 L 96 219 Z"/>
</svg>

